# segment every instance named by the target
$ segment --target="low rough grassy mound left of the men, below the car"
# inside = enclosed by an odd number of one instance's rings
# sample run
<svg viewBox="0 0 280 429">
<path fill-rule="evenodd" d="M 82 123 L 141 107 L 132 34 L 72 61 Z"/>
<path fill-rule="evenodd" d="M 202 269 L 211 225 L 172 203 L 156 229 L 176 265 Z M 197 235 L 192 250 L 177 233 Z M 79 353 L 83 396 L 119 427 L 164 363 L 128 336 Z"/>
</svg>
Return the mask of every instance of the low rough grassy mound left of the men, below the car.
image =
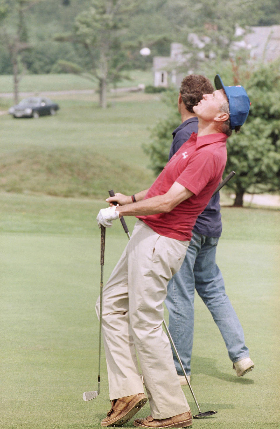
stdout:
<svg viewBox="0 0 280 429">
<path fill-rule="evenodd" d="M 87 148 L 21 149 L 0 156 L 0 190 L 63 197 L 104 198 L 109 189 L 132 194 L 153 182 L 152 173 Z"/>
</svg>

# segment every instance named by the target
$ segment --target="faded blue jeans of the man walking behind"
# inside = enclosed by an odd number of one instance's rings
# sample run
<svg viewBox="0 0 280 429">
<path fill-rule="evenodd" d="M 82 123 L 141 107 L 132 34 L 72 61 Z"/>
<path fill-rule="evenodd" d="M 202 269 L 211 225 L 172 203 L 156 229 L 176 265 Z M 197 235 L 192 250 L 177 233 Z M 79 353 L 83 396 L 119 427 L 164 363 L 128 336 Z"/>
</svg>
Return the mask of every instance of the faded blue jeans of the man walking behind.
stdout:
<svg viewBox="0 0 280 429">
<path fill-rule="evenodd" d="M 184 262 L 167 288 L 169 330 L 187 375 L 190 375 L 193 349 L 195 289 L 211 311 L 232 362 L 249 356 L 242 326 L 226 295 L 223 276 L 216 264 L 218 240 L 193 231 Z M 177 373 L 183 375 L 174 351 L 173 358 Z"/>
</svg>

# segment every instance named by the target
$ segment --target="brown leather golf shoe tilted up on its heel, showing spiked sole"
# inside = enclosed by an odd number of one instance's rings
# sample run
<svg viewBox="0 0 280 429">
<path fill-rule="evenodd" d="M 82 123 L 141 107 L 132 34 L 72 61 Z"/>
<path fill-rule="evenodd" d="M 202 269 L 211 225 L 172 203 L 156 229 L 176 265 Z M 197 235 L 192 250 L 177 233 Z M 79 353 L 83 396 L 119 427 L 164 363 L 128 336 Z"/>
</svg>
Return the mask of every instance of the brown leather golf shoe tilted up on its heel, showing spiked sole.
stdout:
<svg viewBox="0 0 280 429">
<path fill-rule="evenodd" d="M 147 401 L 148 398 L 145 396 L 145 393 L 113 399 L 111 401 L 112 408 L 108 412 L 107 417 L 102 420 L 101 426 L 123 426 Z"/>
</svg>

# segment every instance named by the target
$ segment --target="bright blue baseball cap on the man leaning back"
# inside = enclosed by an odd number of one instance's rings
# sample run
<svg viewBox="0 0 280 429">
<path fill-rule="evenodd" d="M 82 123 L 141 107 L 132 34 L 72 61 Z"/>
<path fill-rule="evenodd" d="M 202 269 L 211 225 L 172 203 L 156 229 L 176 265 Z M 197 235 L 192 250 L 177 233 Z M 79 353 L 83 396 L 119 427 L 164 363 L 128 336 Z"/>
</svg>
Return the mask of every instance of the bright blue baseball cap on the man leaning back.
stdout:
<svg viewBox="0 0 280 429">
<path fill-rule="evenodd" d="M 223 88 L 226 93 L 226 97 L 228 97 L 230 127 L 234 130 L 235 127 L 244 124 L 249 114 L 251 103 L 247 96 L 247 92 L 241 85 L 225 86 L 220 75 L 215 76 L 214 82 L 216 89 Z"/>
</svg>

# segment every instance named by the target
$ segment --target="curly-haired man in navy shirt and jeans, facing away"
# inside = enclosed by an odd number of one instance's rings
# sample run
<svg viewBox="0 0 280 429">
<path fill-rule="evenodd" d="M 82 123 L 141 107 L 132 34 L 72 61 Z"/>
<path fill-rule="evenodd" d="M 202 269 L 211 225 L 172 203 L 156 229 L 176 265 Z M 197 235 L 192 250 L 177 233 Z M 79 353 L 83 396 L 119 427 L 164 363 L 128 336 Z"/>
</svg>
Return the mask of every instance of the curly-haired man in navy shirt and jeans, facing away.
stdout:
<svg viewBox="0 0 280 429">
<path fill-rule="evenodd" d="M 172 133 L 169 160 L 193 132 L 197 133 L 198 118 L 193 106 L 199 103 L 203 94 L 213 91 L 211 82 L 204 76 L 189 75 L 183 79 L 178 97 L 182 123 Z M 169 281 L 165 301 L 169 310 L 169 330 L 188 377 L 193 348 L 195 289 L 220 329 L 237 376 L 254 367 L 242 326 L 226 295 L 223 276 L 216 264 L 221 233 L 220 195 L 216 193 L 197 218 L 186 257 L 181 269 Z M 175 353 L 173 358 L 181 384 L 187 384 Z"/>
</svg>

